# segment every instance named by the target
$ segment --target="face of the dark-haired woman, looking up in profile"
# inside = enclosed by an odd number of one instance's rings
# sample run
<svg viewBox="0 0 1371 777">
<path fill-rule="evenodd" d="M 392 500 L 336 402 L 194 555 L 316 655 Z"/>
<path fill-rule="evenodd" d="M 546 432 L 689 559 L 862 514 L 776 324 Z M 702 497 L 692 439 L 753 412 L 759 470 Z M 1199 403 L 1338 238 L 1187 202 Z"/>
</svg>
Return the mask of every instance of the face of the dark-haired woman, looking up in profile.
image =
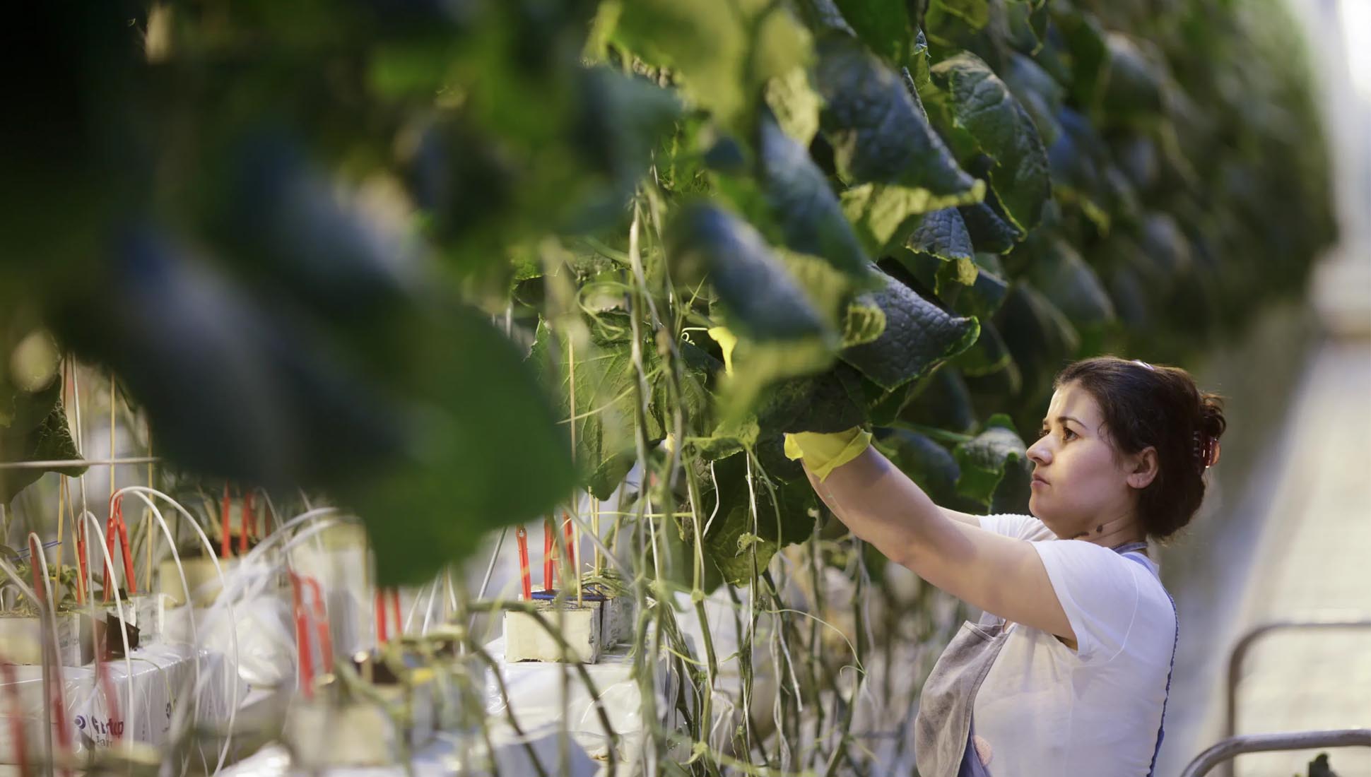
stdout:
<svg viewBox="0 0 1371 777">
<path fill-rule="evenodd" d="M 1090 532 L 1135 510 L 1137 492 L 1128 482 L 1134 456 L 1115 460 L 1104 415 L 1076 381 L 1052 395 L 1028 459 L 1034 463 L 1028 511 L 1058 537 Z"/>
</svg>

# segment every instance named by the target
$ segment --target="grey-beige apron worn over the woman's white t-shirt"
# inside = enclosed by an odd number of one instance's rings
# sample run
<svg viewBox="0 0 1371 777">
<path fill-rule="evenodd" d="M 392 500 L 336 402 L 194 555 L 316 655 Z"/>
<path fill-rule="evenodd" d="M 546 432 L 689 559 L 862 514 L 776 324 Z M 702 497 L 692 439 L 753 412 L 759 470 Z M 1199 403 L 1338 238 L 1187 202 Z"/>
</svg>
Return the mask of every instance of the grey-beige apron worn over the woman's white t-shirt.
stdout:
<svg viewBox="0 0 1371 777">
<path fill-rule="evenodd" d="M 1113 550 L 1126 554 L 1146 547 L 1146 543 L 1130 543 Z M 1174 608 L 1175 600 L 1171 604 Z M 972 708 L 980 684 L 1005 647 L 1008 634 L 1004 626 L 1004 619 L 990 613 L 983 614 L 976 624 L 964 622 L 928 674 L 919 696 L 919 714 L 914 717 L 914 765 L 920 777 L 991 777 L 988 766 L 993 754 L 983 741 L 978 748 Z M 1175 645 L 1172 645 L 1172 669 L 1175 662 Z M 1168 673 L 1168 696 L 1169 692 Z M 1164 702 L 1161 710 L 1165 715 Z M 1157 761 L 1156 754 L 1161 748 L 1161 737 L 1163 732 L 1158 730 L 1157 750 L 1152 756 L 1153 766 Z M 1023 758 L 1023 754 L 1015 756 Z"/>
</svg>

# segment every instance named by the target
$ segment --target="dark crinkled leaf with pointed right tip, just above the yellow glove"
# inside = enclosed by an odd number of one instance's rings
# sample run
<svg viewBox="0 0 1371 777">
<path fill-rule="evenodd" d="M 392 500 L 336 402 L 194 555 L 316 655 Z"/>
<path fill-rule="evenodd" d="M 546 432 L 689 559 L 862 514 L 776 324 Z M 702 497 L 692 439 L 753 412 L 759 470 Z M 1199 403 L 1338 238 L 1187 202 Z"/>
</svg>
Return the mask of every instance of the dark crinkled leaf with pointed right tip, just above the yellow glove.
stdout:
<svg viewBox="0 0 1371 777">
<path fill-rule="evenodd" d="M 886 329 L 872 343 L 846 348 L 842 359 L 882 388 L 895 389 L 976 341 L 980 325 L 958 318 L 886 275 L 886 288 L 862 299 L 886 312 Z"/>
</svg>

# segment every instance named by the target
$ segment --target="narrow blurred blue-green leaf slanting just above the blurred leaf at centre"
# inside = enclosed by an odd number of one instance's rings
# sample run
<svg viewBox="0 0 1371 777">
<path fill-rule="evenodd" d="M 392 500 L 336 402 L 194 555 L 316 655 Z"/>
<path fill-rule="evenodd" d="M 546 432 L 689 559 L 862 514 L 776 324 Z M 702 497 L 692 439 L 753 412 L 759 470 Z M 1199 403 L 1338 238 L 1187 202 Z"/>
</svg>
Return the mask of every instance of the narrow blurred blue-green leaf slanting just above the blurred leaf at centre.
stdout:
<svg viewBox="0 0 1371 777">
<path fill-rule="evenodd" d="M 772 218 L 781 227 L 786 245 L 823 256 L 849 275 L 862 277 L 866 255 L 843 215 L 828 178 L 809 159 L 809 152 L 762 119 L 760 127 L 760 178 Z"/>
</svg>

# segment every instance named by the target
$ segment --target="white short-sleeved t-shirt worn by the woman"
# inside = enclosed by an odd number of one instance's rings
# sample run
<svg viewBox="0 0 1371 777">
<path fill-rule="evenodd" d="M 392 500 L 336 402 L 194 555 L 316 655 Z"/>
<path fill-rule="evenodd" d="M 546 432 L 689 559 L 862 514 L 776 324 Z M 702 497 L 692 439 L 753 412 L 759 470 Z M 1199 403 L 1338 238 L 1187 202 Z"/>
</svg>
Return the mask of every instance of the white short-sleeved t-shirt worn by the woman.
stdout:
<svg viewBox="0 0 1371 777">
<path fill-rule="evenodd" d="M 994 777 L 1145 777 L 1176 637 L 1157 565 L 1058 540 L 1031 515 L 982 515 L 980 526 L 1032 541 L 1079 647 L 1009 625 L 973 708 L 976 736 L 990 745 L 987 769 Z"/>
</svg>

